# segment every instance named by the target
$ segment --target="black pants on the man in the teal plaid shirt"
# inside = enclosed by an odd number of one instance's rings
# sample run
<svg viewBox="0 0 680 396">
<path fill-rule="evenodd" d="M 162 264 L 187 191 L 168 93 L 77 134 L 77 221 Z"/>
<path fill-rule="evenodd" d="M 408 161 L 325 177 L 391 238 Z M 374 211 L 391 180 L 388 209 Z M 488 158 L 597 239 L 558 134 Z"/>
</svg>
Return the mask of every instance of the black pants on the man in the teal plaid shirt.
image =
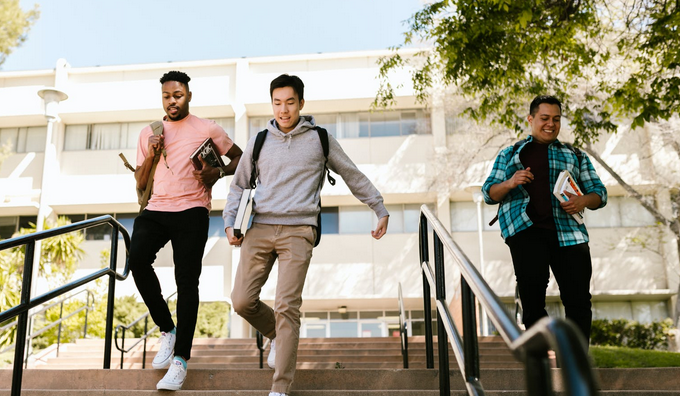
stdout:
<svg viewBox="0 0 680 396">
<path fill-rule="evenodd" d="M 567 318 L 590 340 L 592 310 L 590 278 L 593 266 L 588 243 L 560 247 L 557 232 L 535 227 L 506 240 L 515 267 L 515 278 L 529 328 L 544 316 L 545 294 L 552 269 Z"/>
</svg>

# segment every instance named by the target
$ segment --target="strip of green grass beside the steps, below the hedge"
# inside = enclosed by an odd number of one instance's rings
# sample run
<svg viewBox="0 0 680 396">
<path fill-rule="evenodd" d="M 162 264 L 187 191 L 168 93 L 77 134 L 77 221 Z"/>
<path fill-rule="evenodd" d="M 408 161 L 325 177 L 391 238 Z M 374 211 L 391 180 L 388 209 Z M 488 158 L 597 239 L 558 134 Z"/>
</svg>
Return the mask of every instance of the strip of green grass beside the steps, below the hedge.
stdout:
<svg viewBox="0 0 680 396">
<path fill-rule="evenodd" d="M 590 346 L 595 367 L 680 367 L 680 353 L 645 349 Z"/>
</svg>

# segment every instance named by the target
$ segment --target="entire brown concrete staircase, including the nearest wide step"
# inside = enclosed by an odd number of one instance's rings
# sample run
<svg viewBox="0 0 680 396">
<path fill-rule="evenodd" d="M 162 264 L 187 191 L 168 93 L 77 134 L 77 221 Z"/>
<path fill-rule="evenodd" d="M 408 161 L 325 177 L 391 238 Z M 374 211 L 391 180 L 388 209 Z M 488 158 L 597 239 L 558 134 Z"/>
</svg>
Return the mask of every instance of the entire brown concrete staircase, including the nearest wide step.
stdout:
<svg viewBox="0 0 680 396">
<path fill-rule="evenodd" d="M 130 343 L 128 343 L 129 345 Z M 157 345 L 149 343 L 151 359 Z M 141 352 L 126 358 L 125 370 L 102 370 L 103 343 L 82 340 L 62 346 L 59 358 L 24 371 L 23 396 L 147 396 L 169 395 L 155 390 L 165 370 L 141 370 Z M 114 349 L 115 351 L 115 349 Z M 189 375 L 178 396 L 267 396 L 273 370 L 259 369 L 253 339 L 196 339 Z M 135 355 L 139 354 L 139 355 Z M 410 369 L 402 369 L 399 339 L 302 339 L 292 396 L 435 396 L 439 370 L 424 366 L 422 338 L 409 339 Z M 114 356 L 119 356 L 114 353 Z M 480 339 L 481 382 L 489 396 L 526 395 L 524 371 L 493 337 Z M 265 354 L 266 357 L 266 354 Z M 508 358 L 509 359 L 506 359 Z M 450 355 L 451 395 L 465 395 L 465 384 Z M 436 359 L 435 359 L 436 361 Z M 118 363 L 119 364 L 119 363 Z M 112 361 L 112 367 L 118 367 Z M 504 368 L 499 368 L 506 365 Z M 498 367 L 494 367 L 498 366 Z M 39 369 L 43 368 L 43 369 Z M 266 363 L 265 363 L 266 367 Z M 553 369 L 555 388 L 563 389 L 559 369 Z M 680 368 L 598 369 L 601 394 L 680 396 Z M 10 369 L 0 370 L 0 396 L 9 396 Z M 558 392 L 562 394 L 562 392 Z"/>
</svg>

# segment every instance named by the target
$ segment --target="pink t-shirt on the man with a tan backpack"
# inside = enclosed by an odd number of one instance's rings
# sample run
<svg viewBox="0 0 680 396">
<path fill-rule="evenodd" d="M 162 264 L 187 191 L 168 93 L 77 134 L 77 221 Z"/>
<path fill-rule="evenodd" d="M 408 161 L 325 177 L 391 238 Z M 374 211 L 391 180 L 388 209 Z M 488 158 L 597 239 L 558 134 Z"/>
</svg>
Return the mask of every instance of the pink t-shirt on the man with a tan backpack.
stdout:
<svg viewBox="0 0 680 396">
<path fill-rule="evenodd" d="M 139 134 L 137 164 L 144 162 L 152 135 L 151 126 L 142 129 Z M 181 212 L 195 207 L 210 210 L 211 189 L 194 178 L 194 166 L 189 156 L 208 137 L 212 138 L 222 155 L 234 143 L 214 121 L 191 114 L 180 121 L 163 121 L 163 135 L 168 166 L 165 166 L 161 155 L 153 178 L 153 194 L 146 208 L 162 212 Z"/>
</svg>

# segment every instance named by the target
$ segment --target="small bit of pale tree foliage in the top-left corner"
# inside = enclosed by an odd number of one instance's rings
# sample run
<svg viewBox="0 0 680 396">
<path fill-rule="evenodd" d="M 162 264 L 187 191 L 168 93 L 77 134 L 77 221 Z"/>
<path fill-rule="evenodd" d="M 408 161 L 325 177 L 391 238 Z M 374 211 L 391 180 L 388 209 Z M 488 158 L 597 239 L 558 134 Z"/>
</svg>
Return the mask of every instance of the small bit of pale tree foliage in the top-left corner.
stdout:
<svg viewBox="0 0 680 396">
<path fill-rule="evenodd" d="M 0 2 L 0 65 L 14 48 L 26 41 L 31 26 L 40 16 L 38 6 L 32 10 L 21 9 L 19 0 L 3 0 Z"/>
</svg>

